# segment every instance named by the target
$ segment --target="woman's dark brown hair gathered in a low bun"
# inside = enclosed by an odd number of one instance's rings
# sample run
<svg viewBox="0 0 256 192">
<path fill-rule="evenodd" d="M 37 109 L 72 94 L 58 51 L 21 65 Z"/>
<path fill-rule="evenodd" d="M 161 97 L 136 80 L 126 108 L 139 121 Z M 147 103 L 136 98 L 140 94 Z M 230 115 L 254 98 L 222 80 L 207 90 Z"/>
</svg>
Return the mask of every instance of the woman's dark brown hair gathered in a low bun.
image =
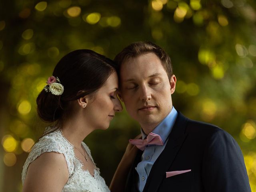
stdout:
<svg viewBox="0 0 256 192">
<path fill-rule="evenodd" d="M 52 73 L 64 86 L 64 92 L 54 95 L 43 89 L 36 99 L 38 116 L 45 122 L 60 122 L 69 110 L 70 101 L 96 92 L 115 70 L 112 60 L 92 50 L 68 53 Z"/>
</svg>

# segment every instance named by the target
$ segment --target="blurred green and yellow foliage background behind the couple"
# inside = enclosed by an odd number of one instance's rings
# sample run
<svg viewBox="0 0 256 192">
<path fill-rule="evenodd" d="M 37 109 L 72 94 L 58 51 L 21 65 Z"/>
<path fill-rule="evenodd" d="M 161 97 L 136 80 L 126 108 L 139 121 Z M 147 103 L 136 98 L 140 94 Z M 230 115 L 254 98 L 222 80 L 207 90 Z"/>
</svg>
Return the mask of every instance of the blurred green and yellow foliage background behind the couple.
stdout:
<svg viewBox="0 0 256 192">
<path fill-rule="evenodd" d="M 256 192 L 255 22 L 254 0 L 0 0 L 0 190 L 22 190 L 28 150 L 46 126 L 36 97 L 58 60 L 84 48 L 113 59 L 150 40 L 172 59 L 175 108 L 236 139 Z M 124 110 L 85 139 L 107 184 L 139 132 Z"/>
</svg>

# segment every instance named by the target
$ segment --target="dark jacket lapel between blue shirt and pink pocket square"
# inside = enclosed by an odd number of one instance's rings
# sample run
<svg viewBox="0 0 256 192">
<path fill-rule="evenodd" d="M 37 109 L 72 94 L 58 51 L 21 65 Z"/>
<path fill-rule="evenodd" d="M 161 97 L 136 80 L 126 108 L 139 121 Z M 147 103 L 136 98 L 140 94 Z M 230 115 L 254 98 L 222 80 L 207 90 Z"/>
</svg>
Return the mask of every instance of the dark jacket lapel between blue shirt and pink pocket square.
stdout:
<svg viewBox="0 0 256 192">
<path fill-rule="evenodd" d="M 168 142 L 150 170 L 143 192 L 156 192 L 164 178 L 166 171 L 172 165 L 176 154 L 186 138 L 185 129 L 188 118 L 178 112 L 178 117 L 169 135 Z"/>
</svg>

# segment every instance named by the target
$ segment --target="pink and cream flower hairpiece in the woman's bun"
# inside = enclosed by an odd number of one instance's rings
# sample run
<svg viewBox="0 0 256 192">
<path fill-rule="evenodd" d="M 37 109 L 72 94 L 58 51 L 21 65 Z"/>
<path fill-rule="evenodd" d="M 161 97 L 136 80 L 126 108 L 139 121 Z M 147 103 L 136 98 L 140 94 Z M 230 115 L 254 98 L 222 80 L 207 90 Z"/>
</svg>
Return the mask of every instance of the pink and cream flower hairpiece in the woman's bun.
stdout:
<svg viewBox="0 0 256 192">
<path fill-rule="evenodd" d="M 51 92 L 54 95 L 61 95 L 64 91 L 64 86 L 60 84 L 60 79 L 58 77 L 51 76 L 48 78 L 44 86 L 45 92 Z"/>
</svg>

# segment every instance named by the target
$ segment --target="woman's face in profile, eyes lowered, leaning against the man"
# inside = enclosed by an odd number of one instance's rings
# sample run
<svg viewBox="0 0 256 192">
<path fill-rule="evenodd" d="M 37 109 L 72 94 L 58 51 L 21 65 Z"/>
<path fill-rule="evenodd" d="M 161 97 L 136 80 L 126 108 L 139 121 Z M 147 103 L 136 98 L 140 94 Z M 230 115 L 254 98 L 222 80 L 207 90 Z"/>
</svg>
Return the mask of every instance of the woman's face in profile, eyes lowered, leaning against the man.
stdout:
<svg viewBox="0 0 256 192">
<path fill-rule="evenodd" d="M 113 72 L 86 106 L 86 118 L 93 128 L 107 129 L 115 112 L 122 111 L 122 105 L 117 98 L 117 90 L 118 77 L 116 72 Z"/>
</svg>

